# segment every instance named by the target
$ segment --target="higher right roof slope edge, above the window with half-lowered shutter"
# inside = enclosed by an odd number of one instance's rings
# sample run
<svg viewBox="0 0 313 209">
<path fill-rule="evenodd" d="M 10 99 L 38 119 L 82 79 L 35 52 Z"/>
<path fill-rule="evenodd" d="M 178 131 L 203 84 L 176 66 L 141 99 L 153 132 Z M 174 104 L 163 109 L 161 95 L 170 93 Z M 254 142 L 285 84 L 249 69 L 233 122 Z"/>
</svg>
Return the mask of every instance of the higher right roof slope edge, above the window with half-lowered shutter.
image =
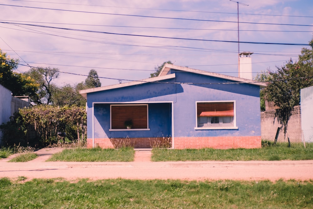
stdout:
<svg viewBox="0 0 313 209">
<path fill-rule="evenodd" d="M 162 70 L 161 70 L 161 72 L 159 74 L 159 77 L 167 75 L 167 73 L 171 69 L 178 70 L 178 71 L 197 73 L 197 74 L 206 75 L 206 76 L 213 76 L 213 77 L 223 78 L 223 79 L 236 81 L 236 82 L 249 83 L 249 84 L 252 84 L 252 85 L 260 86 L 260 88 L 264 88 L 264 87 L 266 87 L 268 85 L 266 82 L 258 82 L 258 81 L 245 79 L 245 78 L 239 78 L 239 77 L 234 77 L 234 76 L 226 76 L 226 75 L 219 74 L 219 73 L 212 73 L 212 72 L 208 72 L 208 71 L 202 71 L 202 70 L 192 69 L 192 68 L 189 68 L 189 67 L 182 67 L 182 66 L 172 65 L 172 64 L 168 64 L 168 63 L 166 63 L 163 66 L 163 68 L 162 68 Z"/>
</svg>

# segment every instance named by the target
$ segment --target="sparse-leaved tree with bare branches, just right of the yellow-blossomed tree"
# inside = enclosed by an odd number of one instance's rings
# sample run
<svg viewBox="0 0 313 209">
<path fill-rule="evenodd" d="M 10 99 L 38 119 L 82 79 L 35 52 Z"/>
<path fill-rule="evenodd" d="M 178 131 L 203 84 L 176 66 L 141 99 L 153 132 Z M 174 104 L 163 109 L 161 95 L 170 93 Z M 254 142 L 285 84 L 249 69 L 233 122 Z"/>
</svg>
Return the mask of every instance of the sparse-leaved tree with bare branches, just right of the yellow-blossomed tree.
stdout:
<svg viewBox="0 0 313 209">
<path fill-rule="evenodd" d="M 39 85 L 37 95 L 30 97 L 30 100 L 36 104 L 51 104 L 51 97 L 56 88 L 52 80 L 59 77 L 59 69 L 33 67 L 25 74 L 33 78 Z"/>
</svg>

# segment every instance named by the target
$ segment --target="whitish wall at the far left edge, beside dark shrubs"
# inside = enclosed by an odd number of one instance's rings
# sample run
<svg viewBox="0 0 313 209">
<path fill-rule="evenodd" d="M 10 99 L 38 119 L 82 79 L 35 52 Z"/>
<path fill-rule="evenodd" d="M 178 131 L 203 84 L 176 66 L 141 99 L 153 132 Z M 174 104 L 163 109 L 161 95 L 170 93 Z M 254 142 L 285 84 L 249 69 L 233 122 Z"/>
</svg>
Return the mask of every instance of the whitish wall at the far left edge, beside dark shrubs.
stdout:
<svg viewBox="0 0 313 209">
<path fill-rule="evenodd" d="M 6 123 L 10 120 L 11 97 L 11 91 L 0 84 L 0 124 Z M 0 140 L 1 138 L 2 133 L 0 131 Z"/>
</svg>

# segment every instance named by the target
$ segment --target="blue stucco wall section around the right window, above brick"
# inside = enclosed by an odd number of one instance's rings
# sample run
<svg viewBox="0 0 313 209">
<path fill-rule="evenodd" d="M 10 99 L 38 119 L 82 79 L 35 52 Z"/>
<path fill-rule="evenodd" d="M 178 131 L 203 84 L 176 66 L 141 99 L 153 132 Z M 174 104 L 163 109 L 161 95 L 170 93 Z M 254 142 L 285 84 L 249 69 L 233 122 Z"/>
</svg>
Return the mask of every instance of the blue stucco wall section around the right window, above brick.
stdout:
<svg viewBox="0 0 313 209">
<path fill-rule="evenodd" d="M 200 74 L 176 72 L 177 82 L 183 92 L 177 94 L 174 104 L 174 136 L 260 136 L 259 86 L 251 84 L 220 84 L 227 81 L 221 78 Z M 218 83 L 218 84 L 216 84 Z M 196 101 L 236 101 L 236 130 L 195 130 Z"/>
</svg>

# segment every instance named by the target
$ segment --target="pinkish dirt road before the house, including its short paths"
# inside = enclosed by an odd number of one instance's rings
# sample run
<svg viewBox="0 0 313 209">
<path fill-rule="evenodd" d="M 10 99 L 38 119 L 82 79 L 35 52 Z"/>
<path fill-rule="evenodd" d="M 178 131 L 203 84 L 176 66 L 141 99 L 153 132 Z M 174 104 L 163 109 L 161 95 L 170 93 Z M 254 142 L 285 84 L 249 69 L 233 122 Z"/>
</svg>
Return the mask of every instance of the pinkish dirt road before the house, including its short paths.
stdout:
<svg viewBox="0 0 313 209">
<path fill-rule="evenodd" d="M 197 161 L 151 162 L 149 151 L 136 152 L 134 162 L 45 162 L 63 148 L 44 148 L 25 163 L 0 160 L 0 178 L 181 179 L 181 180 L 310 180 L 313 160 L 303 161 Z"/>
</svg>

